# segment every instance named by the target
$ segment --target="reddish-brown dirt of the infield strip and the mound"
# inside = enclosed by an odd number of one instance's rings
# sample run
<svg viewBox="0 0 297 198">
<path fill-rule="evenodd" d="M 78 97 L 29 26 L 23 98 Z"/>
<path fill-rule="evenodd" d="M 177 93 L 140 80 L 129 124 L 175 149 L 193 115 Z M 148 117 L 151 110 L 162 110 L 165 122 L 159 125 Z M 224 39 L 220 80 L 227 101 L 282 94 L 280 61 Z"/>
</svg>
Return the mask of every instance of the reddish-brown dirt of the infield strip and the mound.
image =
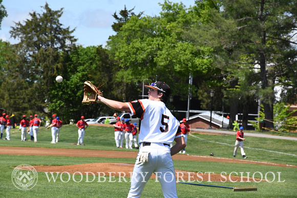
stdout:
<svg viewBox="0 0 297 198">
<path fill-rule="evenodd" d="M 137 152 L 129 151 L 111 151 L 111 150 L 86 150 L 86 149 L 62 149 L 62 148 L 32 148 L 32 147 L 1 147 L 0 155 L 27 155 L 27 156 L 69 156 L 69 157 L 100 157 L 100 158 L 134 158 L 137 157 Z M 248 164 L 262 164 L 270 166 L 283 166 L 283 167 L 297 167 L 295 165 L 268 163 L 268 162 L 256 162 L 250 160 L 217 158 L 208 156 L 190 156 L 190 155 L 175 155 L 173 160 L 183 161 L 209 161 L 209 162 L 228 162 L 228 163 L 248 163 Z M 42 172 L 69 172 L 74 174 L 80 172 L 87 174 L 86 172 L 98 173 L 101 175 L 112 177 L 131 177 L 134 164 L 123 163 L 91 163 L 91 164 L 78 164 L 78 165 L 66 165 L 66 166 L 34 166 L 37 171 Z M 183 170 L 175 170 L 176 178 L 181 180 L 192 181 L 247 181 L 247 178 L 241 178 L 236 176 L 222 177 L 219 174 L 203 174 L 197 172 L 187 172 Z M 113 174 L 113 175 L 110 175 Z M 155 179 L 155 175 L 152 177 Z"/>
</svg>

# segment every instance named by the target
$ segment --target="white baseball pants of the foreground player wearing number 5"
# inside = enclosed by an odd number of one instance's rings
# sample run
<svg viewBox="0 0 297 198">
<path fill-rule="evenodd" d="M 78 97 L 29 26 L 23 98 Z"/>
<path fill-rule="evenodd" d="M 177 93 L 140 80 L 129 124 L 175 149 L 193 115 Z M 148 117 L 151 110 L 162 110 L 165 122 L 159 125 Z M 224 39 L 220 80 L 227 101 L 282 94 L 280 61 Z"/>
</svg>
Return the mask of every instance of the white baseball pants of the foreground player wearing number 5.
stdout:
<svg viewBox="0 0 297 198">
<path fill-rule="evenodd" d="M 149 162 L 134 165 L 128 197 L 140 197 L 152 173 L 155 173 L 156 178 L 159 180 L 165 198 L 177 197 L 175 171 L 170 147 L 162 143 L 151 143 L 150 146 L 140 144 L 139 153 L 141 152 L 150 152 Z M 138 181 L 142 182 L 137 183 Z"/>
</svg>

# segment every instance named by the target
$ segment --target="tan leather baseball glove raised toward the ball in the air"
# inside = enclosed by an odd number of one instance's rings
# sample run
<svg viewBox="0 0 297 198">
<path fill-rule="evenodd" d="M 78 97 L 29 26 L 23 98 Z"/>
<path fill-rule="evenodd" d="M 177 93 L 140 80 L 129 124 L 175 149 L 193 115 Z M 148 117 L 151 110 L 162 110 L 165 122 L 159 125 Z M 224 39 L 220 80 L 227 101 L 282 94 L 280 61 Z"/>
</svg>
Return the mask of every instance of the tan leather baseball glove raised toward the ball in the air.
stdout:
<svg viewBox="0 0 297 198">
<path fill-rule="evenodd" d="M 104 84 L 96 87 L 94 84 L 92 84 L 90 81 L 84 82 L 84 89 L 83 89 L 83 99 L 82 99 L 82 104 L 94 104 L 97 100 L 97 96 L 103 96 L 102 92 L 100 92 L 99 88 L 103 86 Z"/>
</svg>

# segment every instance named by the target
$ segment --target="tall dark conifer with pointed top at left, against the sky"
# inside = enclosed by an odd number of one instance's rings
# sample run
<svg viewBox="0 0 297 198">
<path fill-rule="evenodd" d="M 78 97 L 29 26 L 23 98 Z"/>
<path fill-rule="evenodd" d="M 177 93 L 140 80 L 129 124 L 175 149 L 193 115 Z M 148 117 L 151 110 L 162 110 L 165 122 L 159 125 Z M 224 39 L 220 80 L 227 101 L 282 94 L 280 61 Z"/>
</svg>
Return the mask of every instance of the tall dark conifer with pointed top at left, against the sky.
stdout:
<svg viewBox="0 0 297 198">
<path fill-rule="evenodd" d="M 63 9 L 54 11 L 48 4 L 41 8 L 45 12 L 29 13 L 31 19 L 24 24 L 15 23 L 10 31 L 11 36 L 20 42 L 12 46 L 13 53 L 7 63 L 9 77 L 1 89 L 11 93 L 3 102 L 6 108 L 15 109 L 14 112 L 25 113 L 30 109 L 46 113 L 45 109 L 56 97 L 50 94 L 55 86 L 55 77 L 65 72 L 69 52 L 77 40 L 71 35 L 74 30 L 63 28 L 59 23 Z M 11 89 L 14 92 L 10 92 Z M 11 102 L 15 99 L 18 105 Z"/>
</svg>

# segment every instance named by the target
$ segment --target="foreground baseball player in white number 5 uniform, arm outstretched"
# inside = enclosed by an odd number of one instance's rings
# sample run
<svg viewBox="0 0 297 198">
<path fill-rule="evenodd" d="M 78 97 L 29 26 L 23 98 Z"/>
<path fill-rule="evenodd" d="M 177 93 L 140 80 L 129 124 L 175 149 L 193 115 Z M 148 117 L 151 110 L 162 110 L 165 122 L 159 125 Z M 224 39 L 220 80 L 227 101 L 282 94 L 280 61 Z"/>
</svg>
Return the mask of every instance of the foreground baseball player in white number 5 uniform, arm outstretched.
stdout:
<svg viewBox="0 0 297 198">
<path fill-rule="evenodd" d="M 140 148 L 128 197 L 140 197 L 152 173 L 160 181 L 164 197 L 177 197 L 171 156 L 178 153 L 186 144 L 181 135 L 179 121 L 165 106 L 171 90 L 165 82 L 160 81 L 145 86 L 149 89 L 149 99 L 123 103 L 98 96 L 96 102 L 118 111 L 129 112 L 141 119 L 138 136 Z M 173 140 L 176 144 L 170 148 L 169 144 Z"/>
</svg>

